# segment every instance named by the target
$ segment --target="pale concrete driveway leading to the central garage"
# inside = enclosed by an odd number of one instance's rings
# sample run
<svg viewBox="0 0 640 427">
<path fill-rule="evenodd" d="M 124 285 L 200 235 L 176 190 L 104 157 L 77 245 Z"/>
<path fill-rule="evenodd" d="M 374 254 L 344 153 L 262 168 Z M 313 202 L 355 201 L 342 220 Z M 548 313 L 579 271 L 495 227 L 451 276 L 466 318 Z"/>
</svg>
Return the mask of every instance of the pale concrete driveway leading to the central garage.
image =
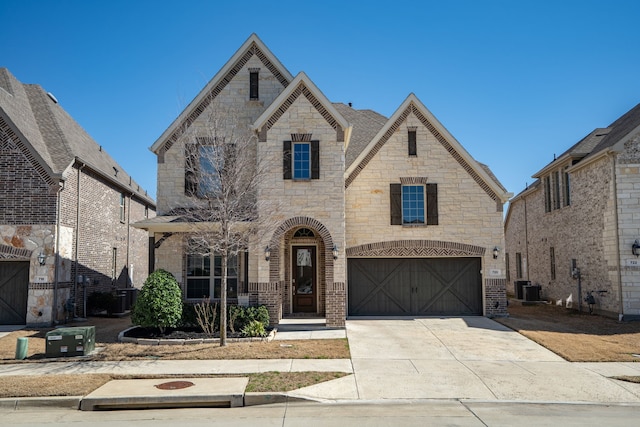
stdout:
<svg viewBox="0 0 640 427">
<path fill-rule="evenodd" d="M 352 318 L 357 399 L 640 402 L 610 380 L 484 317 Z"/>
</svg>

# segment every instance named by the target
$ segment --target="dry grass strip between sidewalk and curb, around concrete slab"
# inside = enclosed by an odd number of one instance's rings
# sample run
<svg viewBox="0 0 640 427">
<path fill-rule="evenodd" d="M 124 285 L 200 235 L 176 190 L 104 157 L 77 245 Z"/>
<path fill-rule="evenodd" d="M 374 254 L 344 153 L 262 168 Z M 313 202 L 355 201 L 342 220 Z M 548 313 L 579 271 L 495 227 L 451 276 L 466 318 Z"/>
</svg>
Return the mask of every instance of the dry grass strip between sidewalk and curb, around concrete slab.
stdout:
<svg viewBox="0 0 640 427">
<path fill-rule="evenodd" d="M 348 375 L 343 372 L 264 372 L 246 375 L 189 375 L 190 378 L 248 377 L 247 392 L 287 392 Z M 184 378 L 171 375 L 41 375 L 0 376 L 0 398 L 86 396 L 111 380 Z"/>
</svg>

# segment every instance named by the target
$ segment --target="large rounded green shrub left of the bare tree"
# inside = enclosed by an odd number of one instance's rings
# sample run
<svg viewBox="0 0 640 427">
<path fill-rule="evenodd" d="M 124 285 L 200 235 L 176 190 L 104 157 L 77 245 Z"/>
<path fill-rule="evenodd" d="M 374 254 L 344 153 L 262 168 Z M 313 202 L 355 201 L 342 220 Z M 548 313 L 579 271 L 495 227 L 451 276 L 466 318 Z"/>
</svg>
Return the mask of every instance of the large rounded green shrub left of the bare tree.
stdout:
<svg viewBox="0 0 640 427">
<path fill-rule="evenodd" d="M 131 321 L 146 328 L 175 328 L 182 318 L 182 291 L 171 273 L 156 270 L 145 280 L 135 305 Z"/>
</svg>

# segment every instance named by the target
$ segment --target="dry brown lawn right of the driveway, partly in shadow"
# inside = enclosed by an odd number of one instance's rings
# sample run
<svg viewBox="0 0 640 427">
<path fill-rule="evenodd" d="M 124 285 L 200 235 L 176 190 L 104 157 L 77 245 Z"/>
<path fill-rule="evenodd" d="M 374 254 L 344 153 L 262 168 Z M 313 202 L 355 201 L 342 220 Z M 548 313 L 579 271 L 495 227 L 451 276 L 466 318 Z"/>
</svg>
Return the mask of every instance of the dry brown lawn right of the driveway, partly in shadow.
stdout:
<svg viewBox="0 0 640 427">
<path fill-rule="evenodd" d="M 640 322 L 618 322 L 563 307 L 513 302 L 496 319 L 570 362 L 640 362 Z"/>
</svg>

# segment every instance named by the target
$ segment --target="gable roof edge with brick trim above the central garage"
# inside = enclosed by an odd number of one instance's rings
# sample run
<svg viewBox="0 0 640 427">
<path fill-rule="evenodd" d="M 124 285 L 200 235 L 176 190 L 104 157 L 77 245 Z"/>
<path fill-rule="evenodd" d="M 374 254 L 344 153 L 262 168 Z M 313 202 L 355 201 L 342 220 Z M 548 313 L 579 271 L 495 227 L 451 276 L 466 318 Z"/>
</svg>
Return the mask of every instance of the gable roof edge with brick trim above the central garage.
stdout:
<svg viewBox="0 0 640 427">
<path fill-rule="evenodd" d="M 395 113 L 387 120 L 385 125 L 378 131 L 376 136 L 347 168 L 345 181 L 347 187 L 406 120 L 407 116 L 412 113 L 429 129 L 436 139 L 451 153 L 460 166 L 471 175 L 492 199 L 501 203 L 509 200 L 511 194 L 506 192 L 493 173 L 488 170 L 488 167 L 478 163 L 413 93 L 404 100 Z"/>
</svg>

